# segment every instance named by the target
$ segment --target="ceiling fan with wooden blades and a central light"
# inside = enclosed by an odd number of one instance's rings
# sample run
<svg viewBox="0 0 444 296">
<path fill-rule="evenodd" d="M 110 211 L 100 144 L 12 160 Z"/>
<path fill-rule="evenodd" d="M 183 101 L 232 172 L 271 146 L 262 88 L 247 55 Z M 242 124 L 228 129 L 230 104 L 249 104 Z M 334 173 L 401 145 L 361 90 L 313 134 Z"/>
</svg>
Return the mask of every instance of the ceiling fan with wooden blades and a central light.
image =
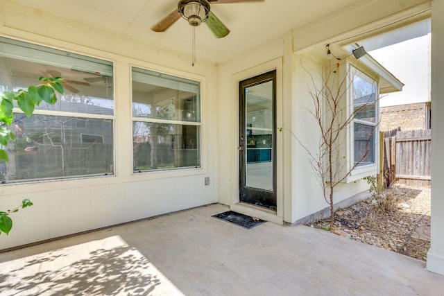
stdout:
<svg viewBox="0 0 444 296">
<path fill-rule="evenodd" d="M 210 30 L 218 38 L 225 37 L 230 30 L 222 23 L 220 19 L 210 11 L 210 3 L 241 3 L 241 2 L 259 2 L 264 0 L 180 0 L 178 9 L 171 12 L 161 21 L 151 27 L 155 32 L 164 32 L 174 24 L 180 17 L 187 19 L 191 26 L 199 26 L 205 22 Z"/>
</svg>

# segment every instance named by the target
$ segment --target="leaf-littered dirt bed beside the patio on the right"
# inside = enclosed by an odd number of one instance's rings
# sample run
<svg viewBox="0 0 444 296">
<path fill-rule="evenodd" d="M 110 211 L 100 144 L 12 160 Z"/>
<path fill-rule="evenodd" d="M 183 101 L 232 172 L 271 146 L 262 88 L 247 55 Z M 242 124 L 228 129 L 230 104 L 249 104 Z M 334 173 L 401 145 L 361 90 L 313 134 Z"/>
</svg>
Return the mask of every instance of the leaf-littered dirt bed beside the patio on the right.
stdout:
<svg viewBox="0 0 444 296">
<path fill-rule="evenodd" d="M 313 226 L 328 229 L 330 218 Z M 335 214 L 332 232 L 425 261 L 430 247 L 430 189 L 395 185 Z"/>
</svg>

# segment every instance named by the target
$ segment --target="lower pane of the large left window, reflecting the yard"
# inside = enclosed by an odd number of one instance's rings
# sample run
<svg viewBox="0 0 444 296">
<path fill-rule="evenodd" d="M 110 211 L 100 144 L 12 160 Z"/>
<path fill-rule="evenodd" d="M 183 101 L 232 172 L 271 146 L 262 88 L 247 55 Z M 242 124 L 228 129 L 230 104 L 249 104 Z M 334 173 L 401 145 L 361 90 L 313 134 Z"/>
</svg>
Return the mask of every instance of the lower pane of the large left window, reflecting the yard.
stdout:
<svg viewBox="0 0 444 296">
<path fill-rule="evenodd" d="M 15 114 L 16 140 L 7 147 L 2 181 L 42 180 L 112 173 L 112 120 L 89 119 L 83 130 L 75 117 Z M 82 121 L 80 119 L 80 121 Z M 99 135 L 86 135 L 89 130 Z"/>
</svg>

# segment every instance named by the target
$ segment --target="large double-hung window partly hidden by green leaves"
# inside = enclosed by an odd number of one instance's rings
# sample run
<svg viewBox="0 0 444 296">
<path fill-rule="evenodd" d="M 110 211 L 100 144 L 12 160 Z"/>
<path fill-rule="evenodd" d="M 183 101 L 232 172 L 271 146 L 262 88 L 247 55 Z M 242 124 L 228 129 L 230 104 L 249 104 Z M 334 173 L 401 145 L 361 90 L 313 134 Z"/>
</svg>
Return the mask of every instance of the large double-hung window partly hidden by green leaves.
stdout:
<svg viewBox="0 0 444 296">
<path fill-rule="evenodd" d="M 56 105 L 42 102 L 31 118 L 15 109 L 3 183 L 113 173 L 112 71 L 112 62 L 0 37 L 0 92 L 40 76 L 61 76 L 65 87 Z"/>
</svg>

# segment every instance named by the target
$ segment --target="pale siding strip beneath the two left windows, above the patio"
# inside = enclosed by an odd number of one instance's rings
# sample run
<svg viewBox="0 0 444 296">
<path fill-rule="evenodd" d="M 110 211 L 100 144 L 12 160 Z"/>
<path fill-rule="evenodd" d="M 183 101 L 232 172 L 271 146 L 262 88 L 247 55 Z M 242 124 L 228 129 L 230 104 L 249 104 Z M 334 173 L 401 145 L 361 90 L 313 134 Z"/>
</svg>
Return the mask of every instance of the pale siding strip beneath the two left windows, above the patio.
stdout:
<svg viewBox="0 0 444 296">
<path fill-rule="evenodd" d="M 204 185 L 203 175 L 71 189 L 51 190 L 56 185 L 47 185 L 48 191 L 1 197 L 1 209 L 12 209 L 24 198 L 31 198 L 34 205 L 12 214 L 12 231 L 8 237 L 1 234 L 0 249 L 217 201 L 212 186 Z"/>
</svg>

